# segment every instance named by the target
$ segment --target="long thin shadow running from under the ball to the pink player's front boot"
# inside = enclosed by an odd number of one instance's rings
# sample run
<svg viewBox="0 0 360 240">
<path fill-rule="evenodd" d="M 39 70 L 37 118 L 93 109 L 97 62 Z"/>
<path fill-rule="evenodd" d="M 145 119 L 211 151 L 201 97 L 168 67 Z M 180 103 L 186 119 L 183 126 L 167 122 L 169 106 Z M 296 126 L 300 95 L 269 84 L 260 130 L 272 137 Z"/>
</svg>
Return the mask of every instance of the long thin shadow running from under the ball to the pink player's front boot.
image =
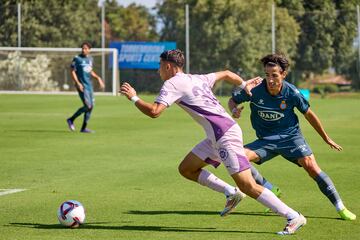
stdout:
<svg viewBox="0 0 360 240">
<path fill-rule="evenodd" d="M 264 231 L 245 231 L 245 230 L 224 230 L 217 228 L 197 228 L 197 227 L 168 227 L 168 226 L 107 226 L 100 225 L 107 223 L 86 223 L 80 228 L 74 230 L 86 230 L 86 229 L 97 229 L 97 230 L 122 230 L 122 231 L 152 231 L 152 232 L 206 232 L 206 233 L 255 233 L 255 234 L 271 234 L 274 232 Z M 16 227 L 27 227 L 27 228 L 38 228 L 38 229 L 65 229 L 68 228 L 61 226 L 60 224 L 42 224 L 42 223 L 10 223 L 11 226 Z"/>
</svg>

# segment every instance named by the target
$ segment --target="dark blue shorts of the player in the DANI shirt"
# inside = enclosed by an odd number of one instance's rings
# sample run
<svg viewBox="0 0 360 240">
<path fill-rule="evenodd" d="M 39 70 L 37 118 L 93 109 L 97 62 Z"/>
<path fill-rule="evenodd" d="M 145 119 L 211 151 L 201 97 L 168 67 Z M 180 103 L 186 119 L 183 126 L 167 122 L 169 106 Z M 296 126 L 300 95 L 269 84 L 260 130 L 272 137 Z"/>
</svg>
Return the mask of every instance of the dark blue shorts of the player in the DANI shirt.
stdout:
<svg viewBox="0 0 360 240">
<path fill-rule="evenodd" d="M 244 146 L 254 151 L 260 160 L 256 164 L 262 164 L 278 155 L 297 164 L 299 158 L 310 156 L 312 150 L 302 135 L 290 136 L 279 140 L 258 139 Z"/>
</svg>

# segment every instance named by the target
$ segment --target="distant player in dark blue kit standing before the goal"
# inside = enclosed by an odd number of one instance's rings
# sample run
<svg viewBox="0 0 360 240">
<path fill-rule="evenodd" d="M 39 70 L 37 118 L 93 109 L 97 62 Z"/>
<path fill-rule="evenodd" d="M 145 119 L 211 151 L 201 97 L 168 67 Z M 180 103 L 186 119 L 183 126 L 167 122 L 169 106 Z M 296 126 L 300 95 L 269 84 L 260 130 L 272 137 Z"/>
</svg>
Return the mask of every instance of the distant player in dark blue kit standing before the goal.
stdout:
<svg viewBox="0 0 360 240">
<path fill-rule="evenodd" d="M 90 43 L 84 42 L 81 44 L 81 54 L 75 56 L 71 63 L 71 77 L 79 93 L 79 97 L 83 102 L 83 106 L 80 107 L 74 115 L 66 119 L 66 122 L 69 129 L 75 131 L 74 121 L 84 113 L 84 121 L 80 130 L 82 133 L 93 132 L 87 128 L 87 123 L 94 108 L 94 90 L 91 77 L 94 77 L 98 81 L 101 89 L 105 87 L 103 80 L 93 70 L 93 58 L 89 55 L 90 49 Z"/>
</svg>

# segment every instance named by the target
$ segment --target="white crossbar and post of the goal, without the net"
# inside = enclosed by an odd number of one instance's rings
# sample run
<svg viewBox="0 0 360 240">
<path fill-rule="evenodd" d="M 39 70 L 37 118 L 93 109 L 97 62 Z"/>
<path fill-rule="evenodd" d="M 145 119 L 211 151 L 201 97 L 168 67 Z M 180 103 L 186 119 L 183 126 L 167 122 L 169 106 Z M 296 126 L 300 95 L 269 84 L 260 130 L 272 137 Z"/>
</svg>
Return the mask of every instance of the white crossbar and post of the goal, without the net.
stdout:
<svg viewBox="0 0 360 240">
<path fill-rule="evenodd" d="M 0 47 L 0 51 L 33 51 L 33 52 L 81 52 L 81 48 L 45 48 L 45 47 Z M 117 96 L 119 91 L 118 50 L 116 48 L 91 48 L 91 52 L 112 53 L 112 95 Z M 104 58 L 103 58 L 104 59 Z"/>
</svg>

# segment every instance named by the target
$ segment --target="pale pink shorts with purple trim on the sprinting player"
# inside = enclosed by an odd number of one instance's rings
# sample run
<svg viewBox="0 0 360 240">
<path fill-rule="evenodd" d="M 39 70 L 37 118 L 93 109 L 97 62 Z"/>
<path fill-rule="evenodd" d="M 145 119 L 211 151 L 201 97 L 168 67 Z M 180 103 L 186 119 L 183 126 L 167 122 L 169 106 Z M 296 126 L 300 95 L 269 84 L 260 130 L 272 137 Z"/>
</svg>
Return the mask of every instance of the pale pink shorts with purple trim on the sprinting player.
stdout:
<svg viewBox="0 0 360 240">
<path fill-rule="evenodd" d="M 239 125 L 232 126 L 217 142 L 205 139 L 192 149 L 192 153 L 215 168 L 224 163 L 229 174 L 250 168 Z"/>
</svg>

